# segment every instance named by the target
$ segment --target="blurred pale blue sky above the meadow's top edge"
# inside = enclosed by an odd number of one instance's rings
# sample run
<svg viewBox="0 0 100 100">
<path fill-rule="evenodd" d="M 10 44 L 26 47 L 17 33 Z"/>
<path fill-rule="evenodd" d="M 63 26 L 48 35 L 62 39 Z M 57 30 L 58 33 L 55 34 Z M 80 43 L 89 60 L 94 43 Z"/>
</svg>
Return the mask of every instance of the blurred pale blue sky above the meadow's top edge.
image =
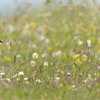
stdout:
<svg viewBox="0 0 100 100">
<path fill-rule="evenodd" d="M 16 10 L 18 6 L 23 5 L 25 2 L 30 2 L 33 7 L 38 8 L 38 7 L 43 7 L 44 2 L 46 0 L 0 0 L 0 15 L 8 15 Z M 55 5 L 59 1 L 63 1 L 64 3 L 67 2 L 67 0 L 53 0 L 55 2 Z M 75 0 L 75 2 L 80 2 L 82 0 Z M 92 0 L 88 0 L 88 2 L 91 2 Z M 100 3 L 100 0 L 97 0 L 98 3 Z"/>
</svg>

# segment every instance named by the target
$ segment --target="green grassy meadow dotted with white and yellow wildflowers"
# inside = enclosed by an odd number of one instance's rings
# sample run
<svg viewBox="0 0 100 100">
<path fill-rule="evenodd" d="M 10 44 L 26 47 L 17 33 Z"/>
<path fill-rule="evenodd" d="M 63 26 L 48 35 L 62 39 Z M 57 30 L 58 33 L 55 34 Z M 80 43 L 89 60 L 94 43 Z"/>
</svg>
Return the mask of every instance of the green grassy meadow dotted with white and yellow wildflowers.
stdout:
<svg viewBox="0 0 100 100">
<path fill-rule="evenodd" d="M 0 100 L 100 100 L 99 6 L 0 19 L 0 39 Z"/>
</svg>

